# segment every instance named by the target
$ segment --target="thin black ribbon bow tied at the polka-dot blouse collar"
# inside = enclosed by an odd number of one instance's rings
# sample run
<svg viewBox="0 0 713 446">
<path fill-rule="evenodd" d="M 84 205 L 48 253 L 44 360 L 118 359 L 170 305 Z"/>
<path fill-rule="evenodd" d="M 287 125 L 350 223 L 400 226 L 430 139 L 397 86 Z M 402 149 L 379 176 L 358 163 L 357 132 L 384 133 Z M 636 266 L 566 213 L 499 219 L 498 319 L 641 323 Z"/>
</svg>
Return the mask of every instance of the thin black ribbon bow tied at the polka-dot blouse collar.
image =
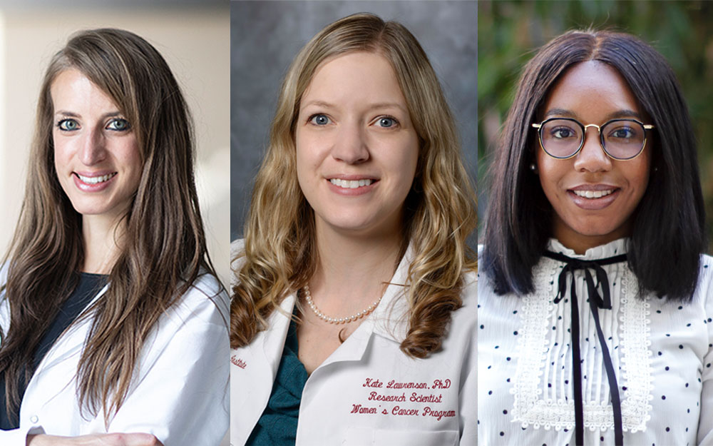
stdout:
<svg viewBox="0 0 713 446">
<path fill-rule="evenodd" d="M 599 322 L 599 308 L 605 308 L 607 310 L 612 309 L 609 278 L 607 278 L 607 272 L 604 268 L 602 268 L 602 266 L 625 262 L 627 260 L 626 254 L 602 258 L 601 260 L 580 260 L 577 258 L 570 258 L 564 254 L 553 253 L 551 251 L 545 251 L 544 255 L 545 257 L 566 263 L 565 267 L 562 268 L 558 279 L 558 292 L 555 300 L 553 300 L 555 304 L 560 303 L 560 300 L 565 297 L 565 293 L 567 293 L 567 275 L 572 275 L 572 285 L 570 287 L 570 299 L 572 300 L 572 365 L 574 375 L 572 383 L 575 395 L 575 440 L 577 445 L 582 446 L 584 444 L 584 403 L 582 397 L 582 355 L 580 353 L 579 308 L 577 293 L 575 293 L 574 273 L 576 270 L 584 270 L 585 283 L 587 284 L 587 292 L 589 294 L 589 308 L 597 327 L 597 338 L 599 338 L 599 344 L 602 347 L 602 354 L 604 355 L 604 368 L 607 371 L 609 391 L 612 397 L 612 409 L 614 412 L 614 442 L 615 445 L 622 446 L 624 444 L 624 432 L 622 429 L 622 407 L 619 397 L 619 385 L 617 385 L 617 376 L 614 372 L 614 365 L 612 365 L 609 348 L 607 348 L 606 339 L 604 338 L 604 333 L 602 333 L 602 325 Z M 595 275 L 597 276 L 596 285 L 590 270 L 594 270 Z M 598 293 L 598 288 L 602 289 L 603 296 Z"/>
</svg>

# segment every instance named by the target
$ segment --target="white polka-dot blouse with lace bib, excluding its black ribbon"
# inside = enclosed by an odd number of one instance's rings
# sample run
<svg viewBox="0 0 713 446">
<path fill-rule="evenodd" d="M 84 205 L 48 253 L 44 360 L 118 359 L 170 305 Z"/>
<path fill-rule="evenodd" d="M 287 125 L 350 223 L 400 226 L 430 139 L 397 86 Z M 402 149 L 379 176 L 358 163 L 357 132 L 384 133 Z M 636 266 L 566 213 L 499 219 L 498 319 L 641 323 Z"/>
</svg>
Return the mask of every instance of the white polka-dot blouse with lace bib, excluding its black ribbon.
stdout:
<svg viewBox="0 0 713 446">
<path fill-rule="evenodd" d="M 557 240 L 549 250 L 587 260 L 626 253 L 627 239 L 576 255 Z M 665 258 L 662 258 L 665 261 Z M 558 304 L 564 263 L 542 258 L 535 292 L 498 296 L 488 277 L 478 289 L 478 445 L 574 445 L 570 287 Z M 702 256 L 691 303 L 638 296 L 626 263 L 603 266 L 612 310 L 599 310 L 622 406 L 625 445 L 713 445 L 713 259 Z M 585 445 L 614 444 L 602 348 L 575 272 L 580 315 Z"/>
</svg>

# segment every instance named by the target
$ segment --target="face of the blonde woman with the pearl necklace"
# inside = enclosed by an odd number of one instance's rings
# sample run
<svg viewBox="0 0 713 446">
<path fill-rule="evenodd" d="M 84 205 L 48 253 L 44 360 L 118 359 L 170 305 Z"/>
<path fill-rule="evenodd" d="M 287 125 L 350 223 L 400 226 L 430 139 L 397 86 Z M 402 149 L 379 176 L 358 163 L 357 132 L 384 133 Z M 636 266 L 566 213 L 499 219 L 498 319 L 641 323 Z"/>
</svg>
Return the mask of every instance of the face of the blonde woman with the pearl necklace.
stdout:
<svg viewBox="0 0 713 446">
<path fill-rule="evenodd" d="M 317 224 L 398 230 L 419 139 L 389 61 L 361 51 L 327 59 L 301 103 L 297 179 Z"/>
</svg>

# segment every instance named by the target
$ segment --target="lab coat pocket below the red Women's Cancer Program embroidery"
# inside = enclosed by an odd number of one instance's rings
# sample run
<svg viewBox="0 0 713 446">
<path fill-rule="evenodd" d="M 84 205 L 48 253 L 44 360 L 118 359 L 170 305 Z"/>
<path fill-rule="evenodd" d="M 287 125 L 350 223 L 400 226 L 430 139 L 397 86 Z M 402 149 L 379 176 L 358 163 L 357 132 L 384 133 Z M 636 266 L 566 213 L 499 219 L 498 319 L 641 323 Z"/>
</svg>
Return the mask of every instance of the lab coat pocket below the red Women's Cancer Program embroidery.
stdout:
<svg viewBox="0 0 713 446">
<path fill-rule="evenodd" d="M 343 446 L 458 446 L 456 430 L 391 430 L 349 427 Z"/>
</svg>

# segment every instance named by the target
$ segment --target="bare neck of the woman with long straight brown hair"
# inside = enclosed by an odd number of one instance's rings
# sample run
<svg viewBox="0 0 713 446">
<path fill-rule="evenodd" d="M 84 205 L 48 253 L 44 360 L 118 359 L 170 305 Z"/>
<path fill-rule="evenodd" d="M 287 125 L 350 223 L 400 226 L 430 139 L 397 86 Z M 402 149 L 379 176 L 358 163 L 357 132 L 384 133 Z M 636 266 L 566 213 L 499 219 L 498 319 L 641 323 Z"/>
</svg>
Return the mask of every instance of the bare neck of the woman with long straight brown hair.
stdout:
<svg viewBox="0 0 713 446">
<path fill-rule="evenodd" d="M 83 216 L 83 273 L 108 274 L 121 252 L 126 233 L 124 219 Z"/>
</svg>

